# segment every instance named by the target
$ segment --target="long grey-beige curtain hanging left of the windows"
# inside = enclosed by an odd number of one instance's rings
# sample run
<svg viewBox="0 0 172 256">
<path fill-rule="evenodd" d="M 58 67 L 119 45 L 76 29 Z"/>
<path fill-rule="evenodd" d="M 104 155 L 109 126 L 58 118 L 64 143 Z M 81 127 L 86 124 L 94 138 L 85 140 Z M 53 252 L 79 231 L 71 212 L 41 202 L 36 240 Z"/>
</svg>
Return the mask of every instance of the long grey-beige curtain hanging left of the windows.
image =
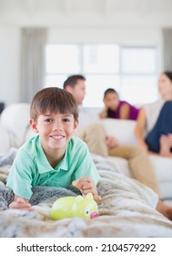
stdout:
<svg viewBox="0 0 172 256">
<path fill-rule="evenodd" d="M 30 102 L 45 83 L 46 28 L 21 30 L 21 97 Z"/>
</svg>

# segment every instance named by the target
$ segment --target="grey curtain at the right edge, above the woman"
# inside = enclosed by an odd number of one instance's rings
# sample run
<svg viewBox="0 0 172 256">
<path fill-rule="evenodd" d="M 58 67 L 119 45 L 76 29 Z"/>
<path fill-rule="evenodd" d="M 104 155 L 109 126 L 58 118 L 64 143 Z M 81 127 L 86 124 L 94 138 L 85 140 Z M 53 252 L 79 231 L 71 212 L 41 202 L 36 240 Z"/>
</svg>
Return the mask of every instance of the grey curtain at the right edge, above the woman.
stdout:
<svg viewBox="0 0 172 256">
<path fill-rule="evenodd" d="M 163 29 L 164 70 L 172 71 L 172 28 Z"/>
</svg>

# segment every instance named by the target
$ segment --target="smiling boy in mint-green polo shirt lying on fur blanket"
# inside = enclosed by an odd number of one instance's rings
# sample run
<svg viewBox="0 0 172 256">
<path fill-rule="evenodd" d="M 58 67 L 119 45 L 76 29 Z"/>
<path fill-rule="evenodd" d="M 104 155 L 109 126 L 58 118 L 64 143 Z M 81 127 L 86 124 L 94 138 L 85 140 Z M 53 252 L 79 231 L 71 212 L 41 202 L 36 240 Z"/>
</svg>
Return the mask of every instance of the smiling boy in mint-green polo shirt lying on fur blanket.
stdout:
<svg viewBox="0 0 172 256">
<path fill-rule="evenodd" d="M 35 137 L 18 150 L 7 178 L 15 200 L 9 208 L 31 209 L 32 187 L 67 187 L 76 181 L 83 194 L 96 200 L 99 175 L 86 144 L 73 136 L 78 124 L 77 104 L 59 88 L 38 91 L 31 103 L 30 125 Z"/>
</svg>

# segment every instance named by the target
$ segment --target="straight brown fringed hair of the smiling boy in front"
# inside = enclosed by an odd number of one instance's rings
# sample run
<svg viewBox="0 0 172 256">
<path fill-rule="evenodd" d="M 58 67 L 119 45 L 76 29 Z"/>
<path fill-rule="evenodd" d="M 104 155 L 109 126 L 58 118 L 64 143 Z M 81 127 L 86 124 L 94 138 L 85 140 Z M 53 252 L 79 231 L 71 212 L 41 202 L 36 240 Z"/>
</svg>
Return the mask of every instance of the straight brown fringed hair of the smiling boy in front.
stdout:
<svg viewBox="0 0 172 256">
<path fill-rule="evenodd" d="M 30 118 L 37 120 L 40 114 L 46 112 L 69 113 L 78 118 L 77 103 L 73 95 L 57 87 L 48 87 L 38 91 L 30 106 Z"/>
</svg>

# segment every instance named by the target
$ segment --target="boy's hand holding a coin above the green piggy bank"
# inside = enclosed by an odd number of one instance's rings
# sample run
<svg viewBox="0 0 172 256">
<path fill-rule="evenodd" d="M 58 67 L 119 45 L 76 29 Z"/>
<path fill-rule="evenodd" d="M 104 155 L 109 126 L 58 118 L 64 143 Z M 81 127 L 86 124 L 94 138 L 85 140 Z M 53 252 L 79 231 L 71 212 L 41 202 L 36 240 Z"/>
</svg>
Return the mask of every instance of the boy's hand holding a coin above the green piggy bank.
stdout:
<svg viewBox="0 0 172 256">
<path fill-rule="evenodd" d="M 84 195 L 87 195 L 88 193 L 92 193 L 96 201 L 101 200 L 101 197 L 98 196 L 98 193 L 96 190 L 96 184 L 91 180 L 89 176 L 81 177 L 76 181 L 73 181 L 72 185 L 80 189 Z"/>
</svg>

